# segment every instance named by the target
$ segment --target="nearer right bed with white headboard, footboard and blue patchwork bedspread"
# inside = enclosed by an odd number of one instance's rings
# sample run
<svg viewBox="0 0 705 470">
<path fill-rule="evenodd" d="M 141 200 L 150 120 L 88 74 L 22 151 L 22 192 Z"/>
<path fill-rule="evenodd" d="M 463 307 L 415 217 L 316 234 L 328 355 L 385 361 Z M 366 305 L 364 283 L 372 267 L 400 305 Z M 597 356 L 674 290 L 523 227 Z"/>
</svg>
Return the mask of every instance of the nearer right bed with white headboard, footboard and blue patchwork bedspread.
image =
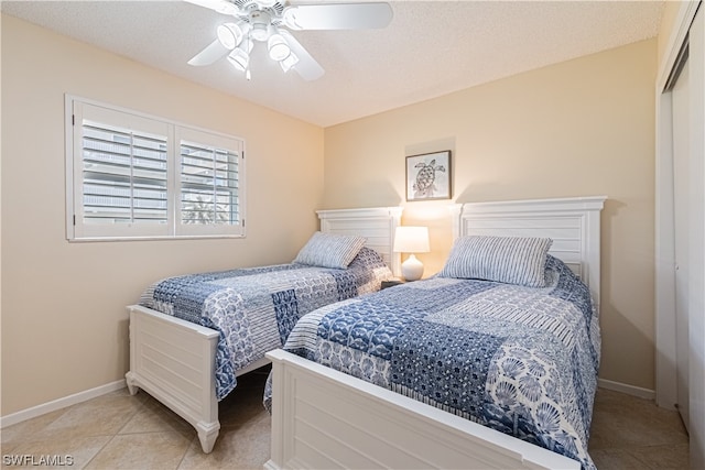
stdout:
<svg viewBox="0 0 705 470">
<path fill-rule="evenodd" d="M 455 206 L 438 276 L 304 316 L 268 354 L 267 468 L 594 468 L 604 200 Z M 520 285 L 451 262 L 468 240 L 538 239 L 546 269 Z"/>
</svg>

